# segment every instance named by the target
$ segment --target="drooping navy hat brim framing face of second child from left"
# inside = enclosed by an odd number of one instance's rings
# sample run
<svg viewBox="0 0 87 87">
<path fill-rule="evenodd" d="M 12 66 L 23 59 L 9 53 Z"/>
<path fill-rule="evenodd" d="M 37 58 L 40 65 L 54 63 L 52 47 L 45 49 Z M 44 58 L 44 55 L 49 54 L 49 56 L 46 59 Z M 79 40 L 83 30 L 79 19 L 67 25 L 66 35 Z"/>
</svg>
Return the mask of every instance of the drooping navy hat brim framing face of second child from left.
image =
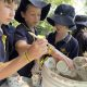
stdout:
<svg viewBox="0 0 87 87">
<path fill-rule="evenodd" d="M 46 18 L 46 16 L 48 15 L 49 11 L 50 11 L 51 4 L 42 2 L 42 1 L 36 1 L 36 0 L 29 0 L 28 2 L 30 2 L 32 4 L 34 4 L 37 8 L 41 9 L 40 21 L 44 21 Z M 24 18 L 21 15 L 22 8 L 23 7 L 20 4 L 18 9 L 15 12 L 15 16 L 14 16 L 14 18 L 20 23 L 24 22 Z"/>
</svg>

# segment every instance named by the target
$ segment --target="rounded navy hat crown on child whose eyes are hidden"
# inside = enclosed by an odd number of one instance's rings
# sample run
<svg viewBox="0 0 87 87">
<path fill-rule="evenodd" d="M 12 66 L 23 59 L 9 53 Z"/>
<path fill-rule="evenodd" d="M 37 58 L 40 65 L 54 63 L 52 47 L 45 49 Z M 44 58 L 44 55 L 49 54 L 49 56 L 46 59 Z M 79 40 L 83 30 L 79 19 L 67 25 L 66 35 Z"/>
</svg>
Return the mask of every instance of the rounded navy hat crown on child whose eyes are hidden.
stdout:
<svg viewBox="0 0 87 87">
<path fill-rule="evenodd" d="M 70 4 L 60 4 L 59 7 L 57 7 L 54 14 L 71 16 L 72 18 L 74 18 L 75 9 Z"/>
</svg>

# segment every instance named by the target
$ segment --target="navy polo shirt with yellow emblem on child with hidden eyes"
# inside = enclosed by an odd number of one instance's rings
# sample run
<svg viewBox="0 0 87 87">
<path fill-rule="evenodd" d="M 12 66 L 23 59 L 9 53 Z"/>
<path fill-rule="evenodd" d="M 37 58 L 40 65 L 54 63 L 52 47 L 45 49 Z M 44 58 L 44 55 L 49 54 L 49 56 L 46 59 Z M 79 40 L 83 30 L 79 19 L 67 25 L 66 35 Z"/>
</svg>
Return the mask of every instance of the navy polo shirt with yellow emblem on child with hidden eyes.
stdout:
<svg viewBox="0 0 87 87">
<path fill-rule="evenodd" d="M 63 40 L 55 42 L 55 34 L 50 33 L 47 36 L 48 41 L 53 45 L 58 50 L 67 55 L 70 59 L 73 59 L 78 55 L 78 41 L 72 36 L 67 35 Z"/>
</svg>

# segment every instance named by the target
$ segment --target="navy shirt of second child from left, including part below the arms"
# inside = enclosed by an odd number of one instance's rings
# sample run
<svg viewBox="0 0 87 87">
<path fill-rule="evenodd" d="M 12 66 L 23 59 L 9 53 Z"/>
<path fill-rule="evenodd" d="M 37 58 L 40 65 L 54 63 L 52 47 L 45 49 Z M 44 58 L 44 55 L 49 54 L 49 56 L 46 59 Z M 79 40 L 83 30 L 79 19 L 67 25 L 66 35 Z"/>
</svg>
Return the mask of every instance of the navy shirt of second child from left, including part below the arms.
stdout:
<svg viewBox="0 0 87 87">
<path fill-rule="evenodd" d="M 27 44 L 32 45 L 33 41 L 35 40 L 35 38 L 28 33 L 30 32 L 29 28 L 26 28 L 26 24 L 20 24 L 16 27 L 15 34 L 14 34 L 14 45 L 18 41 L 18 40 L 26 40 Z M 35 30 L 35 34 L 37 35 L 37 32 Z M 26 77 L 32 77 L 32 67 L 34 66 L 35 61 L 28 63 L 27 65 L 25 65 L 23 69 L 21 69 L 18 71 L 18 74 L 22 76 L 26 76 Z"/>
</svg>

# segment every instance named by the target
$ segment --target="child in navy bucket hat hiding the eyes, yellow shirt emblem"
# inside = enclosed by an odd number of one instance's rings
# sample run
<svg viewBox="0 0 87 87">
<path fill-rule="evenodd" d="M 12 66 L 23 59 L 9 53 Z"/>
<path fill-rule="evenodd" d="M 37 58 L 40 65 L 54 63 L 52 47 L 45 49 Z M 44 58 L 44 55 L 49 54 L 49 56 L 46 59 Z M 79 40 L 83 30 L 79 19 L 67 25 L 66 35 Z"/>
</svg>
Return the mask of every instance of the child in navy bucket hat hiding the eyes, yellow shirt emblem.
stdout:
<svg viewBox="0 0 87 87">
<path fill-rule="evenodd" d="M 50 33 L 47 37 L 48 41 L 53 45 L 58 50 L 66 54 L 70 59 L 78 55 L 78 42 L 69 33 L 75 27 L 74 23 L 75 11 L 69 4 L 60 4 L 51 17 L 47 17 L 55 32 Z"/>
</svg>

